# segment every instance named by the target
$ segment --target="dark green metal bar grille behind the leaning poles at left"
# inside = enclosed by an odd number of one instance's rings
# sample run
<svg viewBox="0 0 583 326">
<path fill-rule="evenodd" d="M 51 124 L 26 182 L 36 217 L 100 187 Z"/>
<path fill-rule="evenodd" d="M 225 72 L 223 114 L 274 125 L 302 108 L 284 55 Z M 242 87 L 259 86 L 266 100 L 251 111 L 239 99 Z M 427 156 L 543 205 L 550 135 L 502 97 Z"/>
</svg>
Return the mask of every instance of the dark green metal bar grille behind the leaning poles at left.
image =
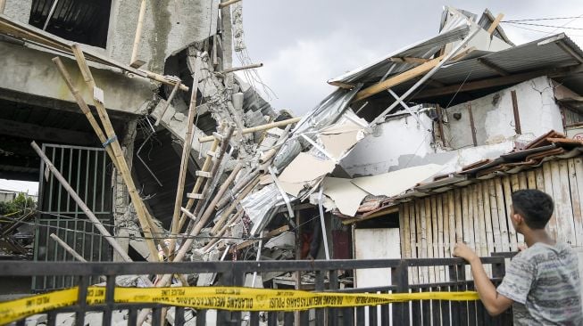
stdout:
<svg viewBox="0 0 583 326">
<path fill-rule="evenodd" d="M 112 166 L 104 149 L 44 144 L 43 151 L 87 207 L 111 232 Z M 50 238 L 50 234 L 54 233 L 87 261 L 111 261 L 112 249 L 95 225 L 87 219 L 54 175 L 46 173 L 44 164 L 41 164 L 40 171 L 40 213 L 37 216 L 34 259 L 46 262 L 75 260 Z M 46 276 L 35 277 L 32 287 L 40 291 L 67 288 L 75 284 L 70 276 Z"/>
</svg>

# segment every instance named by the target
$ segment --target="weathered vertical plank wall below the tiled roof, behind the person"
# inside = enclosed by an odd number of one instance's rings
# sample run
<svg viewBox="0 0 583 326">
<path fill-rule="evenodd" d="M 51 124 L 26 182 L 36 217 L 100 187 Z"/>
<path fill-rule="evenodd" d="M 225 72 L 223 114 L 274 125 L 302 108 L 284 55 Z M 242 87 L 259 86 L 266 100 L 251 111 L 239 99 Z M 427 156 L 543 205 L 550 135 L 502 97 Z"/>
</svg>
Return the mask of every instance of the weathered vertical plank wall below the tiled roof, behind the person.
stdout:
<svg viewBox="0 0 583 326">
<path fill-rule="evenodd" d="M 550 194 L 554 216 L 548 231 L 555 239 L 583 247 L 583 159 L 578 157 L 402 203 L 402 257 L 451 257 L 458 241 L 483 257 L 516 251 L 524 239 L 512 228 L 509 214 L 511 194 L 521 189 Z M 448 281 L 448 274 L 445 267 L 419 267 L 410 270 L 409 278 L 412 283 Z"/>
</svg>

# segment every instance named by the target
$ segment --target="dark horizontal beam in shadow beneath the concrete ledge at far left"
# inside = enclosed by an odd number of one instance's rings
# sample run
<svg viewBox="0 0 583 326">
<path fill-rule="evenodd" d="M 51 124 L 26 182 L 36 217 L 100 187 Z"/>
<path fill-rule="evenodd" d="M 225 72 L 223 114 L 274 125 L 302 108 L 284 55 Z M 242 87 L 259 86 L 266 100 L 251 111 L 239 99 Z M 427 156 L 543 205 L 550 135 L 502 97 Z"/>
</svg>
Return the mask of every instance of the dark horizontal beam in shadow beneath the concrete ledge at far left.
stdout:
<svg viewBox="0 0 583 326">
<path fill-rule="evenodd" d="M 95 134 L 5 119 L 0 119 L 0 134 L 29 138 L 40 142 L 67 143 L 78 146 L 99 144 Z"/>
</svg>

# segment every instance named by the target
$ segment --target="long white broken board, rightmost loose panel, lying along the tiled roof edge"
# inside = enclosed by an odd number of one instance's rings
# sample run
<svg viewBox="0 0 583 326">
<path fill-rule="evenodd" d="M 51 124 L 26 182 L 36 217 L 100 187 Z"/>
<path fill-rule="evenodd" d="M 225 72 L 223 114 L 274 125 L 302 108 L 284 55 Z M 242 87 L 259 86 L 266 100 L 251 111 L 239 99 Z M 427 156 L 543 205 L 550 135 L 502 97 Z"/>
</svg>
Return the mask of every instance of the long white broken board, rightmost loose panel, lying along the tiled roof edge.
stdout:
<svg viewBox="0 0 583 326">
<path fill-rule="evenodd" d="M 411 189 L 417 183 L 436 175 L 444 167 L 437 164 L 428 164 L 419 167 L 407 167 L 382 175 L 365 176 L 355 178 L 352 183 L 365 192 L 375 196 L 396 196 L 407 189 Z"/>
</svg>

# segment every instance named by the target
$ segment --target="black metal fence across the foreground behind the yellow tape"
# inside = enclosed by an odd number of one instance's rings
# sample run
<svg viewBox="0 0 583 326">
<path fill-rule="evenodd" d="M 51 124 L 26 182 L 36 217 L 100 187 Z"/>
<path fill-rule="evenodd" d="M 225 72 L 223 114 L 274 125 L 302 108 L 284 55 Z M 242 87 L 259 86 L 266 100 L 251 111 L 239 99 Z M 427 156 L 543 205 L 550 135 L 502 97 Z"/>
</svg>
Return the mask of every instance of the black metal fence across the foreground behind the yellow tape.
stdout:
<svg viewBox="0 0 583 326">
<path fill-rule="evenodd" d="M 484 257 L 482 262 L 491 265 L 493 281 L 497 284 L 504 277 L 504 257 Z M 446 266 L 449 281 L 432 284 L 409 284 L 411 268 L 420 266 Z M 254 272 L 296 272 L 315 273 L 316 291 L 351 293 L 415 293 L 427 291 L 472 290 L 473 281 L 466 280 L 466 263 L 459 258 L 429 258 L 403 260 L 331 260 L 331 261 L 260 261 L 260 262 L 192 262 L 192 263 L 41 263 L 41 262 L 0 262 L 0 277 L 7 276 L 72 276 L 79 284 L 77 305 L 62 307 L 46 313 L 46 324 L 54 325 L 57 314 L 75 314 L 75 324 L 86 324 L 87 312 L 98 312 L 104 325 L 112 324 L 112 313 L 121 311 L 129 325 L 137 323 L 141 309 L 152 309 L 152 324 L 160 325 L 162 309 L 159 304 L 131 304 L 113 301 L 115 279 L 120 275 L 164 274 L 164 273 L 218 273 L 221 285 L 243 286 L 247 273 Z M 368 268 L 390 268 L 393 285 L 366 289 L 338 289 L 338 271 Z M 106 277 L 105 302 L 100 305 L 86 304 L 87 287 L 90 277 Z M 326 285 L 326 286 L 325 286 Z M 214 318 L 215 314 L 212 314 Z M 171 312 L 174 325 L 194 322 L 204 325 L 205 310 L 174 307 Z M 479 301 L 420 300 L 393 303 L 383 306 L 360 306 L 346 308 L 322 308 L 312 311 L 293 312 L 216 312 L 217 325 L 240 325 L 247 320 L 250 325 L 259 325 L 263 318 L 268 325 L 512 325 L 512 312 L 507 311 L 491 317 Z M 190 321 L 188 321 L 190 319 Z M 367 322 L 368 320 L 368 322 Z M 210 319 L 209 319 L 210 321 Z M 214 322 L 212 322 L 214 323 Z M 25 321 L 17 322 L 24 325 Z"/>
</svg>

